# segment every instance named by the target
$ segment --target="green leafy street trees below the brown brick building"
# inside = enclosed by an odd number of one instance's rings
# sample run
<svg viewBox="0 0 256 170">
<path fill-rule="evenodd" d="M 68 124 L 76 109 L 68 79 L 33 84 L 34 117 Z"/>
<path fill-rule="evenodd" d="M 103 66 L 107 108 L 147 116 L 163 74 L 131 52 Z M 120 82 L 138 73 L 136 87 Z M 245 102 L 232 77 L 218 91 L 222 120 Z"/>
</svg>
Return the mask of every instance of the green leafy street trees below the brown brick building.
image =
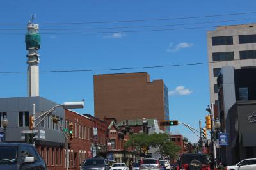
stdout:
<svg viewBox="0 0 256 170">
<path fill-rule="evenodd" d="M 180 147 L 170 141 L 168 134 L 132 134 L 129 140 L 125 143 L 125 148 L 134 147 L 141 153 L 143 147 L 158 148 L 158 152 L 165 157 L 174 159 L 180 151 Z"/>
</svg>

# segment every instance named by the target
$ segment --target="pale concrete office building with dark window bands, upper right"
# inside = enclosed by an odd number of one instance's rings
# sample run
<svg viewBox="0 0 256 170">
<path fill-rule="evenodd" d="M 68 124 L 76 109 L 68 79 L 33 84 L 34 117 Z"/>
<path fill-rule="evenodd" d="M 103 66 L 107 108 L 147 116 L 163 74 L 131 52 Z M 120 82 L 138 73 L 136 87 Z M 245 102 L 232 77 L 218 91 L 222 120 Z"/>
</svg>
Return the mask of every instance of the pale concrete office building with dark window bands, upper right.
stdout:
<svg viewBox="0 0 256 170">
<path fill-rule="evenodd" d="M 211 103 L 217 103 L 216 77 L 223 66 L 235 69 L 256 66 L 256 24 L 220 26 L 207 31 L 207 49 Z"/>
</svg>

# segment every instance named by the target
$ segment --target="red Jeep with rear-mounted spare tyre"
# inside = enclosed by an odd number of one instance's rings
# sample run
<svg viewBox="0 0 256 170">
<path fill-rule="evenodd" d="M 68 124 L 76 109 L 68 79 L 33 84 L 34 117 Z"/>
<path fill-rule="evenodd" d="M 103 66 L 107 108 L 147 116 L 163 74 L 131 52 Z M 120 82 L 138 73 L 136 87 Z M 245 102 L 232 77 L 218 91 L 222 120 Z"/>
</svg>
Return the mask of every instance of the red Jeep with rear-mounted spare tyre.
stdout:
<svg viewBox="0 0 256 170">
<path fill-rule="evenodd" d="M 180 169 L 201 169 L 210 170 L 210 164 L 207 156 L 200 153 L 183 153 L 180 157 Z"/>
</svg>

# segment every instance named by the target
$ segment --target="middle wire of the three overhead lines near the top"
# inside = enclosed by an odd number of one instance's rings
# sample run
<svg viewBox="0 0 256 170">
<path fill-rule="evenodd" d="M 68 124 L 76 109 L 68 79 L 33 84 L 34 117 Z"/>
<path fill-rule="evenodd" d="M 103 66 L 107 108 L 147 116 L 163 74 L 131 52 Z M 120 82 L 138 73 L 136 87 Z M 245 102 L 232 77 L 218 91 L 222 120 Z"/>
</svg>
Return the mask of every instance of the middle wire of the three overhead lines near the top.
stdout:
<svg viewBox="0 0 256 170">
<path fill-rule="evenodd" d="M 67 28 L 67 29 L 40 29 L 40 31 L 68 31 L 68 30 L 95 30 L 95 29 L 130 29 L 130 28 L 143 28 L 143 27 L 166 27 L 166 26 L 186 26 L 195 24 L 212 24 L 220 22 L 234 22 L 241 20 L 255 20 L 256 18 L 250 19 L 236 19 L 236 20 L 219 20 L 211 22 L 193 22 L 193 23 L 182 23 L 182 24 L 164 24 L 164 25 L 153 25 L 153 26 L 127 26 L 127 27 L 89 27 L 89 28 Z M 24 31 L 24 29 L 0 29 L 0 31 Z"/>
</svg>

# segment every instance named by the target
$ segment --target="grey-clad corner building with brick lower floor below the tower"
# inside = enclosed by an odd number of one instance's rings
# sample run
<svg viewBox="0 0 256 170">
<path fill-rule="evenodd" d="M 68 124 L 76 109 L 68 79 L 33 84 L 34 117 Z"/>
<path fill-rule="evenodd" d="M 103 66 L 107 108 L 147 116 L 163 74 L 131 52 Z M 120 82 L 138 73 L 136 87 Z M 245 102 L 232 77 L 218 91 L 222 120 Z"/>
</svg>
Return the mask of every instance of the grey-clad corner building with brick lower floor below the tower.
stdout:
<svg viewBox="0 0 256 170">
<path fill-rule="evenodd" d="M 0 118 L 2 120 L 5 115 L 9 121 L 6 127 L 6 142 L 25 142 L 25 133 L 29 130 L 29 116 L 33 114 L 33 104 L 35 104 L 35 117 L 58 105 L 42 97 L 0 98 Z M 60 118 L 61 125 L 64 124 L 64 109 L 57 107 L 35 128 L 38 131 L 36 132 L 35 146 L 38 153 L 44 158 L 47 169 L 63 169 L 65 137 L 60 127 L 51 121 L 52 115 Z M 2 125 L 0 132 L 3 132 Z"/>
</svg>

